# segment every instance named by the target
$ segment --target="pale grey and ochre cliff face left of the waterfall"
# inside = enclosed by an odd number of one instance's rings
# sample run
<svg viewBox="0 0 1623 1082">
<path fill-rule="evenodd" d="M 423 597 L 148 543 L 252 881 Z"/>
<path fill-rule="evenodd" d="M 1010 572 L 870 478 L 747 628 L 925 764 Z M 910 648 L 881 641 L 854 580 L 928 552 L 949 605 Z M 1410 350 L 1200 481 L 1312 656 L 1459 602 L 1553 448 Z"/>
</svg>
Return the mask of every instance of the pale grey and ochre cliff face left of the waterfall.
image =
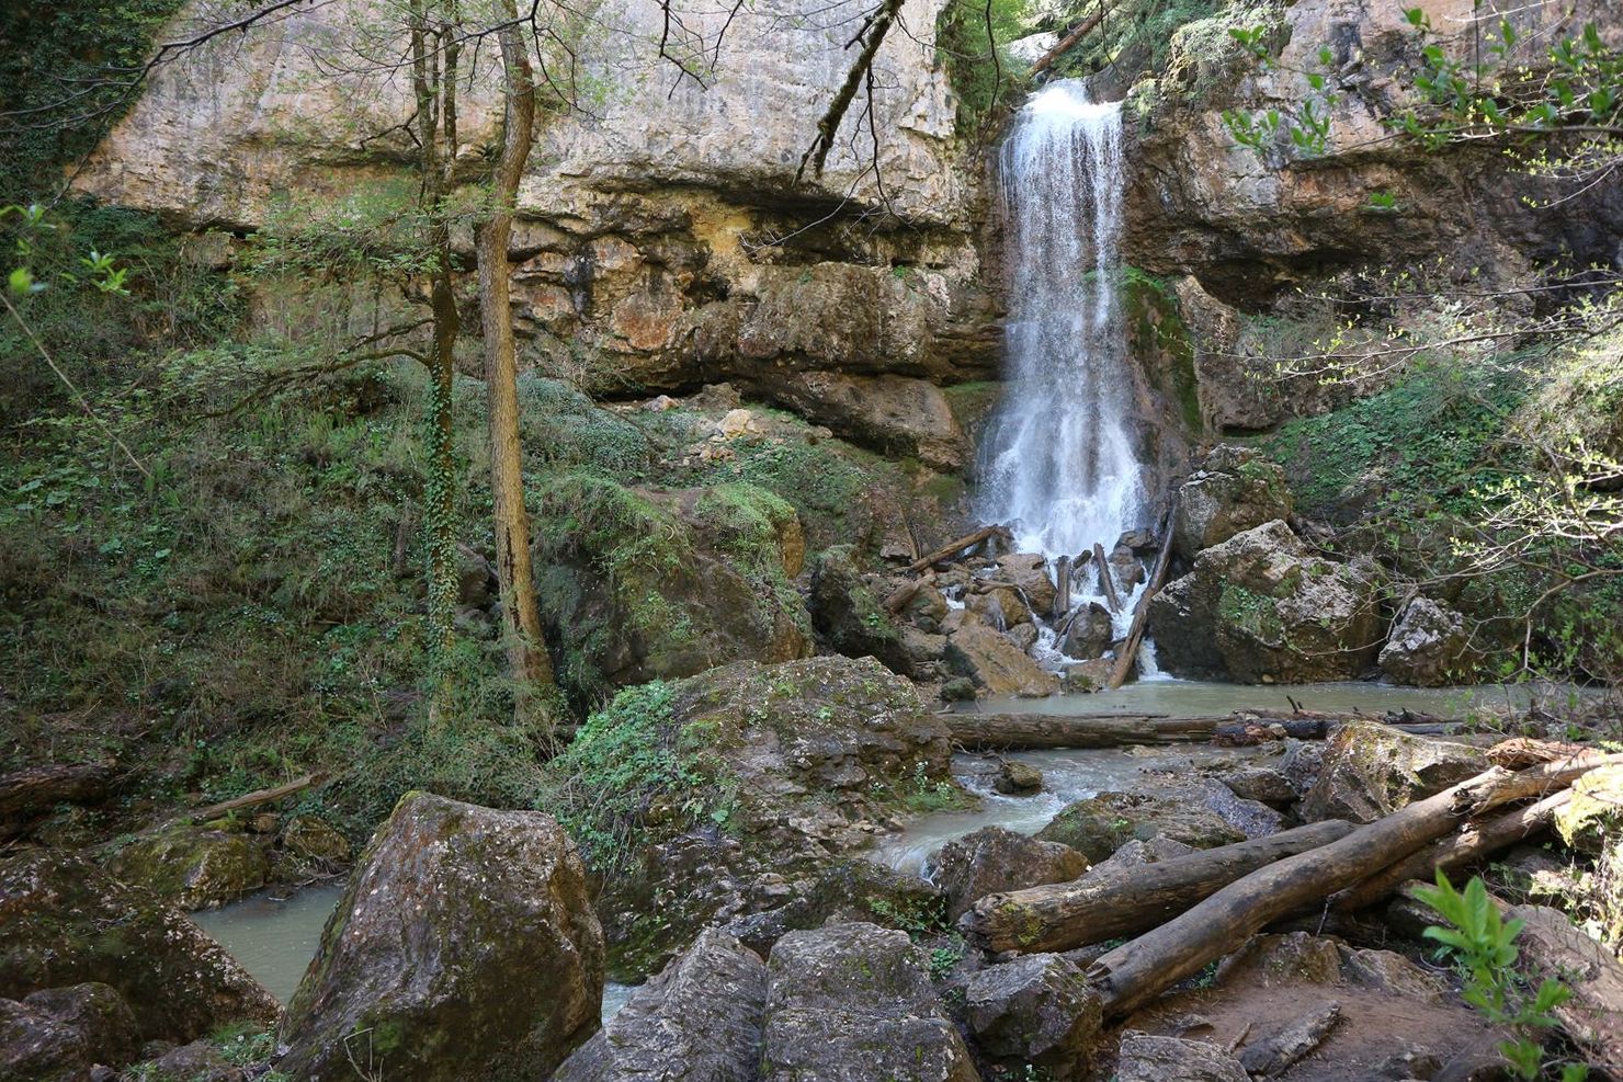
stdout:
<svg viewBox="0 0 1623 1082">
<path fill-rule="evenodd" d="M 571 71 L 578 107 L 544 123 L 519 196 L 531 360 L 613 394 L 732 380 L 881 449 L 885 404 L 927 399 L 943 427 L 927 438 L 956 441 L 936 388 L 993 373 L 997 336 L 979 167 L 933 45 L 941 5 L 907 0 L 878 54 L 872 123 L 859 94 L 823 177 L 795 185 L 854 60 L 859 0 L 685 15 L 670 52 L 700 78 L 659 60 L 657 3 L 599 3 L 570 29 L 578 63 L 553 68 Z M 169 37 L 208 10 L 192 5 Z M 367 0 L 300 6 L 162 67 L 78 187 L 188 227 L 252 229 L 287 193 L 399 183 L 411 86 L 386 18 Z M 493 45 L 476 52 L 458 156 L 471 180 L 498 104 Z M 854 423 L 863 401 L 876 406 Z"/>
</svg>

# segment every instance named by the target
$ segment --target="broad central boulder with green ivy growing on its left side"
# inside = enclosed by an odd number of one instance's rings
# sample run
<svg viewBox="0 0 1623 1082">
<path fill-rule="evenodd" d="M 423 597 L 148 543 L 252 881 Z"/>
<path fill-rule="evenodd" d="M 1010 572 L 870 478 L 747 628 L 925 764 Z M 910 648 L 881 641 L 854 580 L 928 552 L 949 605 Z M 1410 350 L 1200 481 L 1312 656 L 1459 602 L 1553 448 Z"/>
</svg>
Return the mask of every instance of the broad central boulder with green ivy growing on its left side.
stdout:
<svg viewBox="0 0 1623 1082">
<path fill-rule="evenodd" d="M 610 970 L 625 980 L 711 923 L 766 947 L 894 895 L 876 882 L 885 869 L 859 873 L 855 858 L 901 814 L 972 801 L 917 689 L 839 655 L 623 691 L 550 764 L 549 788 L 602 876 Z"/>
</svg>

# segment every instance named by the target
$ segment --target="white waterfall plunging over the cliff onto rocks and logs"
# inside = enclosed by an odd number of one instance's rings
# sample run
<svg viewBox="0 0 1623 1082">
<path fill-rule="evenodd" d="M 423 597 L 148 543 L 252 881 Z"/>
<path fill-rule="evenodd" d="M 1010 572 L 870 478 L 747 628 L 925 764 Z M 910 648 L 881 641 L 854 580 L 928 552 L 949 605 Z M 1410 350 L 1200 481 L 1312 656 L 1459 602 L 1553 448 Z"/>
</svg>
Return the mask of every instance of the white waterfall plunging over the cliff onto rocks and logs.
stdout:
<svg viewBox="0 0 1623 1082">
<path fill-rule="evenodd" d="M 1115 282 L 1121 105 L 1050 84 L 1021 110 L 998 174 L 1008 386 L 982 444 L 977 511 L 1010 524 L 1018 552 L 1109 550 L 1146 511 Z"/>
</svg>

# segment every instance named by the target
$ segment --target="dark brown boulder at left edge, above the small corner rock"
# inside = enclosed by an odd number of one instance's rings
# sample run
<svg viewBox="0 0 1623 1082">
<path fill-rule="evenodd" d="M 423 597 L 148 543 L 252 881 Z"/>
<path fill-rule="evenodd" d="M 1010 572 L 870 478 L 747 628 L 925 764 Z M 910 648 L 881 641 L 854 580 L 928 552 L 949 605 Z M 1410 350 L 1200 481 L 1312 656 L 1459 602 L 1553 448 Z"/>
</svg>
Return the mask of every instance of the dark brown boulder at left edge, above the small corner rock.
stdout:
<svg viewBox="0 0 1623 1082">
<path fill-rule="evenodd" d="M 143 1040 L 188 1041 L 278 1011 L 224 947 L 151 891 L 76 855 L 0 861 L 0 996 L 86 981 L 123 998 Z"/>
</svg>

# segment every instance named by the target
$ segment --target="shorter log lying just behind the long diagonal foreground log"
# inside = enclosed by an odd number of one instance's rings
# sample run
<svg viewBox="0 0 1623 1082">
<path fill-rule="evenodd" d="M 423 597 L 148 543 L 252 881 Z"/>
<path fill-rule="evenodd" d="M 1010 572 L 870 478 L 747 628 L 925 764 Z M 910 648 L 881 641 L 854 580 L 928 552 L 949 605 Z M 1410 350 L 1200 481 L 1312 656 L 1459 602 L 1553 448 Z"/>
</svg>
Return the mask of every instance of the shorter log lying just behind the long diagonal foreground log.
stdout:
<svg viewBox="0 0 1623 1082">
<path fill-rule="evenodd" d="M 1154 865 L 1104 868 L 1071 882 L 990 894 L 975 902 L 959 926 L 990 951 L 1070 951 L 1133 936 L 1240 876 L 1329 845 L 1352 829 L 1350 822 L 1328 819 Z"/>
</svg>

